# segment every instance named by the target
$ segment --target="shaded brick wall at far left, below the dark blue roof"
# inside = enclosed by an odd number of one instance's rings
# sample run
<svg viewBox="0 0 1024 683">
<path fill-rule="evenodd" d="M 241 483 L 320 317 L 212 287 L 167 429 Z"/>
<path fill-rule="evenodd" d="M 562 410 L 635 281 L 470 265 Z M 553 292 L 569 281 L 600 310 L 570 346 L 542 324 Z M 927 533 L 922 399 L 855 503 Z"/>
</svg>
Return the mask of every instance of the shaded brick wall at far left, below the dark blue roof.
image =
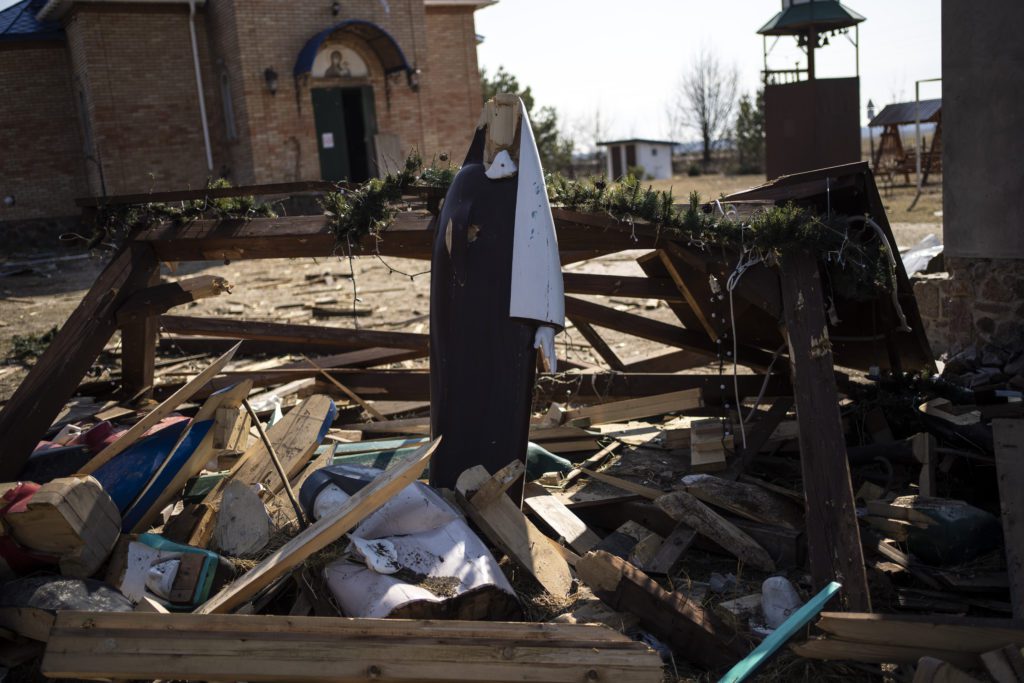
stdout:
<svg viewBox="0 0 1024 683">
<path fill-rule="evenodd" d="M 67 45 L 0 49 L 0 222 L 78 213 L 85 162 Z"/>
</svg>

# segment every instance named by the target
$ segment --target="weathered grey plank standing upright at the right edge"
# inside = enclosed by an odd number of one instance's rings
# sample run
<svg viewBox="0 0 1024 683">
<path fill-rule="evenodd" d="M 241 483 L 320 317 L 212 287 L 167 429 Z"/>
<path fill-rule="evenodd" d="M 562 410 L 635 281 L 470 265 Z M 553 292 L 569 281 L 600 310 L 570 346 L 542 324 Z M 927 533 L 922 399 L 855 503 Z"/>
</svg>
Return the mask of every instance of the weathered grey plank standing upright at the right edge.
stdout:
<svg viewBox="0 0 1024 683">
<path fill-rule="evenodd" d="M 992 420 L 992 437 L 1010 602 L 1014 617 L 1024 618 L 1024 420 Z"/>
</svg>

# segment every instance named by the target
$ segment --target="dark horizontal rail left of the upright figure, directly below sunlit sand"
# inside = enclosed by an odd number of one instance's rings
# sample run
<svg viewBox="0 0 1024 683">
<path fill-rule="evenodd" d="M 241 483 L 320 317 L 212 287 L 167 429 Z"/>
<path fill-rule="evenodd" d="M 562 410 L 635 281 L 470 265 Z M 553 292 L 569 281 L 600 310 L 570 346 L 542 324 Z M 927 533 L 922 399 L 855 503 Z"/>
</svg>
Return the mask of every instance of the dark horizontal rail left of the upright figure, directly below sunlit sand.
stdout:
<svg viewBox="0 0 1024 683">
<path fill-rule="evenodd" d="M 160 327 L 165 332 L 200 337 L 225 337 L 229 339 L 255 339 L 287 342 L 301 346 L 332 344 L 338 349 L 362 349 L 371 346 L 426 350 L 429 337 L 409 332 L 380 332 L 378 330 L 345 330 L 311 325 L 287 325 L 256 321 L 227 321 L 211 317 L 161 315 Z"/>
</svg>

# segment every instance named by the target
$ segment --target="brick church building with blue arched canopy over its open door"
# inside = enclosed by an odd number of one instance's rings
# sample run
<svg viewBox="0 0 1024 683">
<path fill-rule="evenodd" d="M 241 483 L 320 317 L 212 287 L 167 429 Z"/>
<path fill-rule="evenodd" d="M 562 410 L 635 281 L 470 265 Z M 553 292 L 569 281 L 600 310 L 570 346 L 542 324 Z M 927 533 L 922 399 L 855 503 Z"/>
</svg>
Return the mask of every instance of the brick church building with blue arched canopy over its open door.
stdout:
<svg viewBox="0 0 1024 683">
<path fill-rule="evenodd" d="M 74 199 L 362 180 L 465 152 L 490 0 L 22 0 L 0 11 L 0 224 Z"/>
</svg>

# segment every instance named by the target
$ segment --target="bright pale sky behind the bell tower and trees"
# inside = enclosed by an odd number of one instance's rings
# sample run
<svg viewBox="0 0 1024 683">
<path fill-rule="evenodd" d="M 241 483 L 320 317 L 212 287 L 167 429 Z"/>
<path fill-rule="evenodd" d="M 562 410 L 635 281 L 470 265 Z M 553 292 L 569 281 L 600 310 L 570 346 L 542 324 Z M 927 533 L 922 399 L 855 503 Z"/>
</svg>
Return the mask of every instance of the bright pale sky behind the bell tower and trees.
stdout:
<svg viewBox="0 0 1024 683">
<path fill-rule="evenodd" d="M 879 109 L 913 99 L 915 80 L 941 76 L 940 0 L 844 2 L 867 19 L 860 25 L 862 117 L 868 98 Z M 701 46 L 736 66 L 741 91 L 756 90 L 757 30 L 778 9 L 778 0 L 501 0 L 476 12 L 484 37 L 478 55 L 481 67 L 504 66 L 529 85 L 570 129 L 588 129 L 600 110 L 609 137 L 664 137 L 673 87 Z M 792 68 L 800 54 L 796 41 L 780 39 L 769 67 Z M 817 51 L 819 76 L 853 76 L 855 65 L 845 39 Z M 941 84 L 922 86 L 923 98 L 940 95 Z"/>
</svg>

